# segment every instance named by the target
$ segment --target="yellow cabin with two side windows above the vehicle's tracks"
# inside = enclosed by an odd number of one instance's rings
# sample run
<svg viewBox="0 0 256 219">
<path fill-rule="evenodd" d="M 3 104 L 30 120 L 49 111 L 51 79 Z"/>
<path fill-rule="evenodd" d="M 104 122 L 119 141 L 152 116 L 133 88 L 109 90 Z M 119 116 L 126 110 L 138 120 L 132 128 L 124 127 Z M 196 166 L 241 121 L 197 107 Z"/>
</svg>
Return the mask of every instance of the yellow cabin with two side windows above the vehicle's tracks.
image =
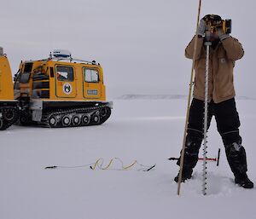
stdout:
<svg viewBox="0 0 256 219">
<path fill-rule="evenodd" d="M 95 61 L 49 58 L 20 63 L 15 74 L 15 99 L 106 101 L 102 66 Z"/>
</svg>

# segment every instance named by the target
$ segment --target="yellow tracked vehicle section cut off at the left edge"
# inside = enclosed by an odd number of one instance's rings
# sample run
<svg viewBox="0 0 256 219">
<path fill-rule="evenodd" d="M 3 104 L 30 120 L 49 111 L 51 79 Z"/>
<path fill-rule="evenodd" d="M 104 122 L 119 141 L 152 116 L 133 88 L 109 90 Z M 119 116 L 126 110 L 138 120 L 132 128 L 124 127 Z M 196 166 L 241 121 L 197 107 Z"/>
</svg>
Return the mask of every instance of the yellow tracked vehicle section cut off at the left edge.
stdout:
<svg viewBox="0 0 256 219">
<path fill-rule="evenodd" d="M 14 100 L 14 89 L 9 61 L 0 47 L 0 130 L 6 130 L 19 117 L 19 102 Z"/>
</svg>

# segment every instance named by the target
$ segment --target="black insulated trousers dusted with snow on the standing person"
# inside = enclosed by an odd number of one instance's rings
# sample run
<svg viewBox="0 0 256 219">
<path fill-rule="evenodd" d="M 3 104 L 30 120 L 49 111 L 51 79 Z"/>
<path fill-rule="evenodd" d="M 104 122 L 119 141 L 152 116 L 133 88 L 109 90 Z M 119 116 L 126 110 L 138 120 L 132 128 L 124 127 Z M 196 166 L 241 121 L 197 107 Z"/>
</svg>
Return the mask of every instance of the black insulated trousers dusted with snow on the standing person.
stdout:
<svg viewBox="0 0 256 219">
<path fill-rule="evenodd" d="M 230 168 L 235 176 L 247 172 L 247 158 L 244 147 L 241 146 L 239 135 L 240 120 L 236 111 L 234 98 L 214 103 L 208 103 L 208 128 L 212 116 L 215 117 L 218 133 L 224 142 L 225 153 Z M 204 101 L 193 99 L 189 109 L 189 124 L 185 143 L 183 168 L 191 170 L 198 161 L 198 153 L 203 140 Z M 177 161 L 179 164 L 179 160 Z"/>
</svg>

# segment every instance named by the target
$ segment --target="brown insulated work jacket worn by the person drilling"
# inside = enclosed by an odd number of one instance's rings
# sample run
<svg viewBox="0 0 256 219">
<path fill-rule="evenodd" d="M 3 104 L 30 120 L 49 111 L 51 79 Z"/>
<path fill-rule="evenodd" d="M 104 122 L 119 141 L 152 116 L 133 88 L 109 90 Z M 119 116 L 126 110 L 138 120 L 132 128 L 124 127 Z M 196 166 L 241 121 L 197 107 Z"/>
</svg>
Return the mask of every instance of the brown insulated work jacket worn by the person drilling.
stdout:
<svg viewBox="0 0 256 219">
<path fill-rule="evenodd" d="M 195 37 L 185 50 L 185 56 L 193 59 Z M 194 97 L 205 100 L 206 48 L 203 38 L 199 37 L 195 55 L 195 88 Z M 219 42 L 215 49 L 210 47 L 209 57 L 209 90 L 208 100 L 215 103 L 229 100 L 235 94 L 233 68 L 235 61 L 241 59 L 244 51 L 241 43 L 234 37 Z"/>
</svg>

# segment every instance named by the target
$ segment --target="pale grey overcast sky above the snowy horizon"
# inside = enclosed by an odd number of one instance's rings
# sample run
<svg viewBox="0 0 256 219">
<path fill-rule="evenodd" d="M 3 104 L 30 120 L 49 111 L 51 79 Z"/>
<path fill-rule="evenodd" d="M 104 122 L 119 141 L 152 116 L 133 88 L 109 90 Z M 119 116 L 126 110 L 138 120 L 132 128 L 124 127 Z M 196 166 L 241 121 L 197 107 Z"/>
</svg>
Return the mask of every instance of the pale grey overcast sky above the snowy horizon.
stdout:
<svg viewBox="0 0 256 219">
<path fill-rule="evenodd" d="M 194 0 L 1 1 L 0 46 L 15 73 L 20 60 L 53 49 L 103 66 L 108 95 L 187 95 L 191 61 L 184 48 L 195 33 Z M 245 56 L 236 62 L 237 95 L 255 97 L 254 0 L 202 0 L 201 17 L 232 19 Z"/>
</svg>

